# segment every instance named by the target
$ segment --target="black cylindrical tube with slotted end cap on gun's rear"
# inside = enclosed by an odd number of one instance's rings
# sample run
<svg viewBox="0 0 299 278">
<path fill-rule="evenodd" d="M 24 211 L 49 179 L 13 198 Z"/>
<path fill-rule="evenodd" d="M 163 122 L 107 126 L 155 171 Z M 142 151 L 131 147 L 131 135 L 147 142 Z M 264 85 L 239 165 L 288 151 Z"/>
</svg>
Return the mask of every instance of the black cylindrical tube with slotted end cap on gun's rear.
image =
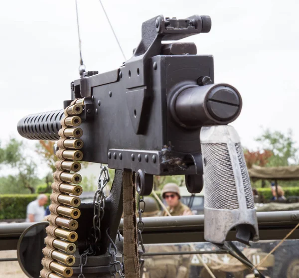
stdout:
<svg viewBox="0 0 299 278">
<path fill-rule="evenodd" d="M 173 94 L 169 107 L 174 120 L 187 128 L 229 124 L 241 108 L 240 93 L 228 84 L 185 85 Z"/>
</svg>

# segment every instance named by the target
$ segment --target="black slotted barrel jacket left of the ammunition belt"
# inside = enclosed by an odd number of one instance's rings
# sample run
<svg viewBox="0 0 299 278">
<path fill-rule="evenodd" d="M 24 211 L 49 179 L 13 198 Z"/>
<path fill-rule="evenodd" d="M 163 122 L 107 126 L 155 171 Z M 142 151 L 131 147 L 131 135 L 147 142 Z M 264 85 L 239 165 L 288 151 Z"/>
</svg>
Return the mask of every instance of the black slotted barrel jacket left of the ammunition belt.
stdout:
<svg viewBox="0 0 299 278">
<path fill-rule="evenodd" d="M 63 109 L 37 113 L 22 118 L 17 124 L 20 136 L 33 140 L 58 140 L 60 121 L 64 118 Z"/>
</svg>

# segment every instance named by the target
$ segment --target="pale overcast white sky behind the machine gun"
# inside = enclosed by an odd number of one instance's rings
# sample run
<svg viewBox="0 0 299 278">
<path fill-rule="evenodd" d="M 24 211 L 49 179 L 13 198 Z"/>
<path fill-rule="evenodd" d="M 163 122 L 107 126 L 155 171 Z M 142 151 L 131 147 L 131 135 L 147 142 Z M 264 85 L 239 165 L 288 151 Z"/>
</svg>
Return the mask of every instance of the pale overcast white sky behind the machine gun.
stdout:
<svg viewBox="0 0 299 278">
<path fill-rule="evenodd" d="M 256 148 L 264 128 L 299 141 L 299 4 L 296 0 L 103 0 L 128 58 L 141 24 L 159 14 L 210 15 L 212 29 L 191 36 L 198 54 L 214 55 L 215 83 L 236 87 L 243 110 L 232 124 L 242 144 Z M 105 72 L 124 58 L 98 0 L 78 0 L 83 60 Z M 0 8 L 0 141 L 21 137 L 27 114 L 62 108 L 78 78 L 75 0 L 10 0 Z M 29 143 L 30 144 L 30 143 Z M 32 143 L 31 143 L 32 144 Z"/>
</svg>

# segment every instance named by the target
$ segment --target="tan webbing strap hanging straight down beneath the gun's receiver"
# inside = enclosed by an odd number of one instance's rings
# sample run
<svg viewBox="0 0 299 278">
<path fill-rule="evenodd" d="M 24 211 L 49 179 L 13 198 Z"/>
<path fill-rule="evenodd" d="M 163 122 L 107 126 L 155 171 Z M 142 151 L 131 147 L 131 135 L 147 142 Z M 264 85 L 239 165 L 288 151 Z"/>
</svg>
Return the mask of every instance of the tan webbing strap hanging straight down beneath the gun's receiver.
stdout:
<svg viewBox="0 0 299 278">
<path fill-rule="evenodd" d="M 136 191 L 131 171 L 123 171 L 123 190 L 125 275 L 126 278 L 140 278 L 136 220 Z"/>
</svg>

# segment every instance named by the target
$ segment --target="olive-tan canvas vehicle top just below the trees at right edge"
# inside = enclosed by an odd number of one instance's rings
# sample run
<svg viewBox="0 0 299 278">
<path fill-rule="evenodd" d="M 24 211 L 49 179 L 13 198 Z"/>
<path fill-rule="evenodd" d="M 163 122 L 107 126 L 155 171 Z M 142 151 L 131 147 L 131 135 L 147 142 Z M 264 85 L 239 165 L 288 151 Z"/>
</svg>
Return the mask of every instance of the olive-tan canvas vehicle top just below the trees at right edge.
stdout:
<svg viewBox="0 0 299 278">
<path fill-rule="evenodd" d="M 261 167 L 253 165 L 248 169 L 252 179 L 299 180 L 299 166 Z"/>
</svg>

